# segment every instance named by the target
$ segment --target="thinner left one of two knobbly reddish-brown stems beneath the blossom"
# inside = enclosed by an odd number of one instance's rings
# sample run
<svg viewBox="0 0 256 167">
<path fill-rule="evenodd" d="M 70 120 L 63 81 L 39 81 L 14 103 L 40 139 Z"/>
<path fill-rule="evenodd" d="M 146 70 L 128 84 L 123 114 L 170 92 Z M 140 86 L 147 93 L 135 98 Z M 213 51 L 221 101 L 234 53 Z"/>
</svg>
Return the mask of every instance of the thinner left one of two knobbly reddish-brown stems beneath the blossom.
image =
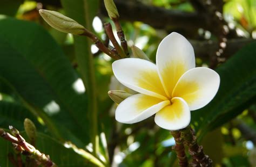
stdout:
<svg viewBox="0 0 256 167">
<path fill-rule="evenodd" d="M 183 144 L 183 139 L 181 138 L 181 133 L 179 132 L 179 130 L 173 130 L 170 133 L 172 134 L 172 136 L 174 137 L 174 140 L 176 142 L 176 145 L 173 146 L 173 149 L 177 153 L 177 157 L 179 159 L 179 165 L 181 167 L 188 166 L 187 157 L 185 154 L 185 148 L 184 148 L 184 144 Z"/>
</svg>

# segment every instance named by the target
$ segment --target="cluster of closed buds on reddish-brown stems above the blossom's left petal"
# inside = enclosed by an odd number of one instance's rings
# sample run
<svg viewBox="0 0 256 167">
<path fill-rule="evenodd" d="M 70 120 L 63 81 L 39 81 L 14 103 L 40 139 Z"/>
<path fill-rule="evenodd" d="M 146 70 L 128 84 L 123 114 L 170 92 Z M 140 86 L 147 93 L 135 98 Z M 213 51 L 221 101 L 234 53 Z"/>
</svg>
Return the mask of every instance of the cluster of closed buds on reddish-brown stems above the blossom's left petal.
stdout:
<svg viewBox="0 0 256 167">
<path fill-rule="evenodd" d="M 114 4 L 113 0 L 104 0 L 104 3 L 106 6 L 106 10 L 109 13 L 110 19 L 113 20 L 114 25 L 116 26 L 117 35 L 120 40 L 121 46 L 119 46 L 116 38 L 114 37 L 112 26 L 110 23 L 105 23 L 104 28 L 106 35 L 113 43 L 114 48 L 112 48 L 111 46 L 105 46 L 96 34 L 87 30 L 84 26 L 77 23 L 77 21 L 66 17 L 59 12 L 41 9 L 39 10 L 39 13 L 51 27 L 55 28 L 58 31 L 64 33 L 71 33 L 74 35 L 82 35 L 90 38 L 91 41 L 95 43 L 95 45 L 99 48 L 101 52 L 109 55 L 114 60 L 129 57 L 129 50 L 127 48 L 124 31 L 122 30 L 122 26 L 119 22 L 119 14 L 116 5 Z"/>
</svg>

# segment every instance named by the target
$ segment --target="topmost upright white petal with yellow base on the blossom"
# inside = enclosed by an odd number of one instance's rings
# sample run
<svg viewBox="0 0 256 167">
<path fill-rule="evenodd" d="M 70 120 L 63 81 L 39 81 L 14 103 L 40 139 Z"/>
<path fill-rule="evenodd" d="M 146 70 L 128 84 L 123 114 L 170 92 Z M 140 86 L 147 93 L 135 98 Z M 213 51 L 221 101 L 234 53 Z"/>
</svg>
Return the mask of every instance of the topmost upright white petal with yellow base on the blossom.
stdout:
<svg viewBox="0 0 256 167">
<path fill-rule="evenodd" d="M 196 66 L 194 49 L 183 35 L 173 32 L 159 44 L 156 59 L 161 82 L 171 97 L 181 75 Z"/>
</svg>

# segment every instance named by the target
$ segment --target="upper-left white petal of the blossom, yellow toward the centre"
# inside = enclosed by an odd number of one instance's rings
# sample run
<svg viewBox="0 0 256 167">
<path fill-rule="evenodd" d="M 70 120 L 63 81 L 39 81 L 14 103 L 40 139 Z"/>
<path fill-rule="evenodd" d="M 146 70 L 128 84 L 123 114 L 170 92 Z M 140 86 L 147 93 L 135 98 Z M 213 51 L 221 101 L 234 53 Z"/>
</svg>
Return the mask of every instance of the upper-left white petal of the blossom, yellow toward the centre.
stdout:
<svg viewBox="0 0 256 167">
<path fill-rule="evenodd" d="M 145 95 L 167 99 L 156 64 L 142 59 L 127 58 L 114 61 L 112 68 L 117 80 L 128 88 Z"/>
</svg>

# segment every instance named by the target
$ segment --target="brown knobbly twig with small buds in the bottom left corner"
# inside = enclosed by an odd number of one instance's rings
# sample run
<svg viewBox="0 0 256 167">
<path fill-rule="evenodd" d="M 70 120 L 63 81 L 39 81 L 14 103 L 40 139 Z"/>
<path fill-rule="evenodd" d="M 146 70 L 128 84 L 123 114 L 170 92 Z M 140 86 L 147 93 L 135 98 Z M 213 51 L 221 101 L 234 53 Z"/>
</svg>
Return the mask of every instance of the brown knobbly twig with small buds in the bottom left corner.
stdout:
<svg viewBox="0 0 256 167">
<path fill-rule="evenodd" d="M 57 165 L 53 163 L 49 155 L 45 155 L 37 150 L 33 145 L 36 142 L 36 127 L 33 122 L 29 119 L 24 121 L 25 132 L 30 139 L 30 143 L 26 142 L 19 131 L 13 126 L 9 126 L 10 133 L 5 132 L 5 130 L 0 129 L 0 136 L 12 143 L 15 152 L 17 154 L 17 159 L 14 158 L 12 154 L 9 154 L 10 161 L 15 166 L 23 166 L 21 155 L 26 156 L 26 164 L 33 164 L 33 166 L 45 166 L 45 167 L 56 167 Z"/>
</svg>

